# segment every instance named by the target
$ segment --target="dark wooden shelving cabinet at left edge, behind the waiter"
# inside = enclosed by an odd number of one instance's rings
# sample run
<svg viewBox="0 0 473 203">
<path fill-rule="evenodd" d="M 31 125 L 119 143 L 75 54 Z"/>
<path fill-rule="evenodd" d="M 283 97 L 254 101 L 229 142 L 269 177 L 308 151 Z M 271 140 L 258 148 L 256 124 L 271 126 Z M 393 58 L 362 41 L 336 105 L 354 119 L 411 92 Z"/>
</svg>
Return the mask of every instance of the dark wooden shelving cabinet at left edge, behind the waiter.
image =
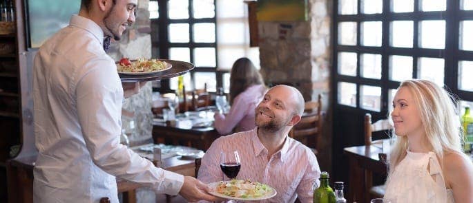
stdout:
<svg viewBox="0 0 473 203">
<path fill-rule="evenodd" d="M 13 32 L 0 33 L 0 202 L 8 199 L 7 160 L 23 153 L 26 136 L 28 148 L 33 148 L 26 151 L 34 151 L 31 58 L 35 51 L 26 47 L 23 1 L 11 1 Z M 11 149 L 17 153 L 10 154 Z"/>
</svg>

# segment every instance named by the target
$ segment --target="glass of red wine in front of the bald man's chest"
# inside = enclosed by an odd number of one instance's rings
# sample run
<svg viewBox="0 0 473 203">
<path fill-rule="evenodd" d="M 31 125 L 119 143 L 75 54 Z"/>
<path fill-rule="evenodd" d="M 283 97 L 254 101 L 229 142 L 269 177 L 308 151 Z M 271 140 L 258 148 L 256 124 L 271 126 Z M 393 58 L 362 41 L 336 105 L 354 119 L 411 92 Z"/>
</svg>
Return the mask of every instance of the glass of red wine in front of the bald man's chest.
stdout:
<svg viewBox="0 0 473 203">
<path fill-rule="evenodd" d="M 238 151 L 221 151 L 220 152 L 220 169 L 222 169 L 224 175 L 222 180 L 226 177 L 233 179 L 236 178 L 238 172 L 240 172 L 240 156 Z"/>
</svg>

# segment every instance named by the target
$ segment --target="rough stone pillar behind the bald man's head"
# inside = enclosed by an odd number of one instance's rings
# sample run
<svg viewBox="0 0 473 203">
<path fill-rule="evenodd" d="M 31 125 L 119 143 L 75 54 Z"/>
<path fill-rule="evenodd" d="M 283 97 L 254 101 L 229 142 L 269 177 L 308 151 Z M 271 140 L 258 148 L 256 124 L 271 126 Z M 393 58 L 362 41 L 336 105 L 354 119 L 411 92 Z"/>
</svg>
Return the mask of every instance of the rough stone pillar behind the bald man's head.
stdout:
<svg viewBox="0 0 473 203">
<path fill-rule="evenodd" d="M 322 94 L 325 111 L 318 160 L 322 170 L 331 169 L 331 1 L 309 0 L 309 20 L 258 22 L 260 65 L 268 85 L 298 88 L 305 100 Z"/>
</svg>

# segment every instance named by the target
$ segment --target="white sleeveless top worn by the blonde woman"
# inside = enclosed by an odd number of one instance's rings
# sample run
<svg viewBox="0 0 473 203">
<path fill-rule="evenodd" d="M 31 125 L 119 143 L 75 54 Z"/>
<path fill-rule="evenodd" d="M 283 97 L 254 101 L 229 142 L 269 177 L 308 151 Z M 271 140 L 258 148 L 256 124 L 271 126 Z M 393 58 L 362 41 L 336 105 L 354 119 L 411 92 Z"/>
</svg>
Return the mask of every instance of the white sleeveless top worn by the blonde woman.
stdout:
<svg viewBox="0 0 473 203">
<path fill-rule="evenodd" d="M 386 183 L 384 198 L 392 203 L 454 202 L 452 190 L 445 188 L 442 169 L 432 151 L 414 153 L 407 150 L 407 156 Z"/>
</svg>

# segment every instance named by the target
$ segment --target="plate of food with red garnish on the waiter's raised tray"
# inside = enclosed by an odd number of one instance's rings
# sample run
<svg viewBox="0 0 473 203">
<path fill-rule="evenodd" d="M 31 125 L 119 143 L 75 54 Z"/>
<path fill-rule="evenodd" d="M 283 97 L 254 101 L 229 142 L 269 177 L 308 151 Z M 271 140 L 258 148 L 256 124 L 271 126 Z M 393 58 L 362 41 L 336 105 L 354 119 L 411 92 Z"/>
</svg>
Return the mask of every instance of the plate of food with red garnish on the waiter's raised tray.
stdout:
<svg viewBox="0 0 473 203">
<path fill-rule="evenodd" d="M 146 60 L 144 58 L 138 58 L 137 60 L 132 61 L 128 58 L 122 58 L 117 63 L 118 73 L 127 75 L 154 74 L 169 70 L 171 67 L 173 67 L 171 63 L 166 63 L 165 61 L 159 61 L 157 59 Z"/>
</svg>

